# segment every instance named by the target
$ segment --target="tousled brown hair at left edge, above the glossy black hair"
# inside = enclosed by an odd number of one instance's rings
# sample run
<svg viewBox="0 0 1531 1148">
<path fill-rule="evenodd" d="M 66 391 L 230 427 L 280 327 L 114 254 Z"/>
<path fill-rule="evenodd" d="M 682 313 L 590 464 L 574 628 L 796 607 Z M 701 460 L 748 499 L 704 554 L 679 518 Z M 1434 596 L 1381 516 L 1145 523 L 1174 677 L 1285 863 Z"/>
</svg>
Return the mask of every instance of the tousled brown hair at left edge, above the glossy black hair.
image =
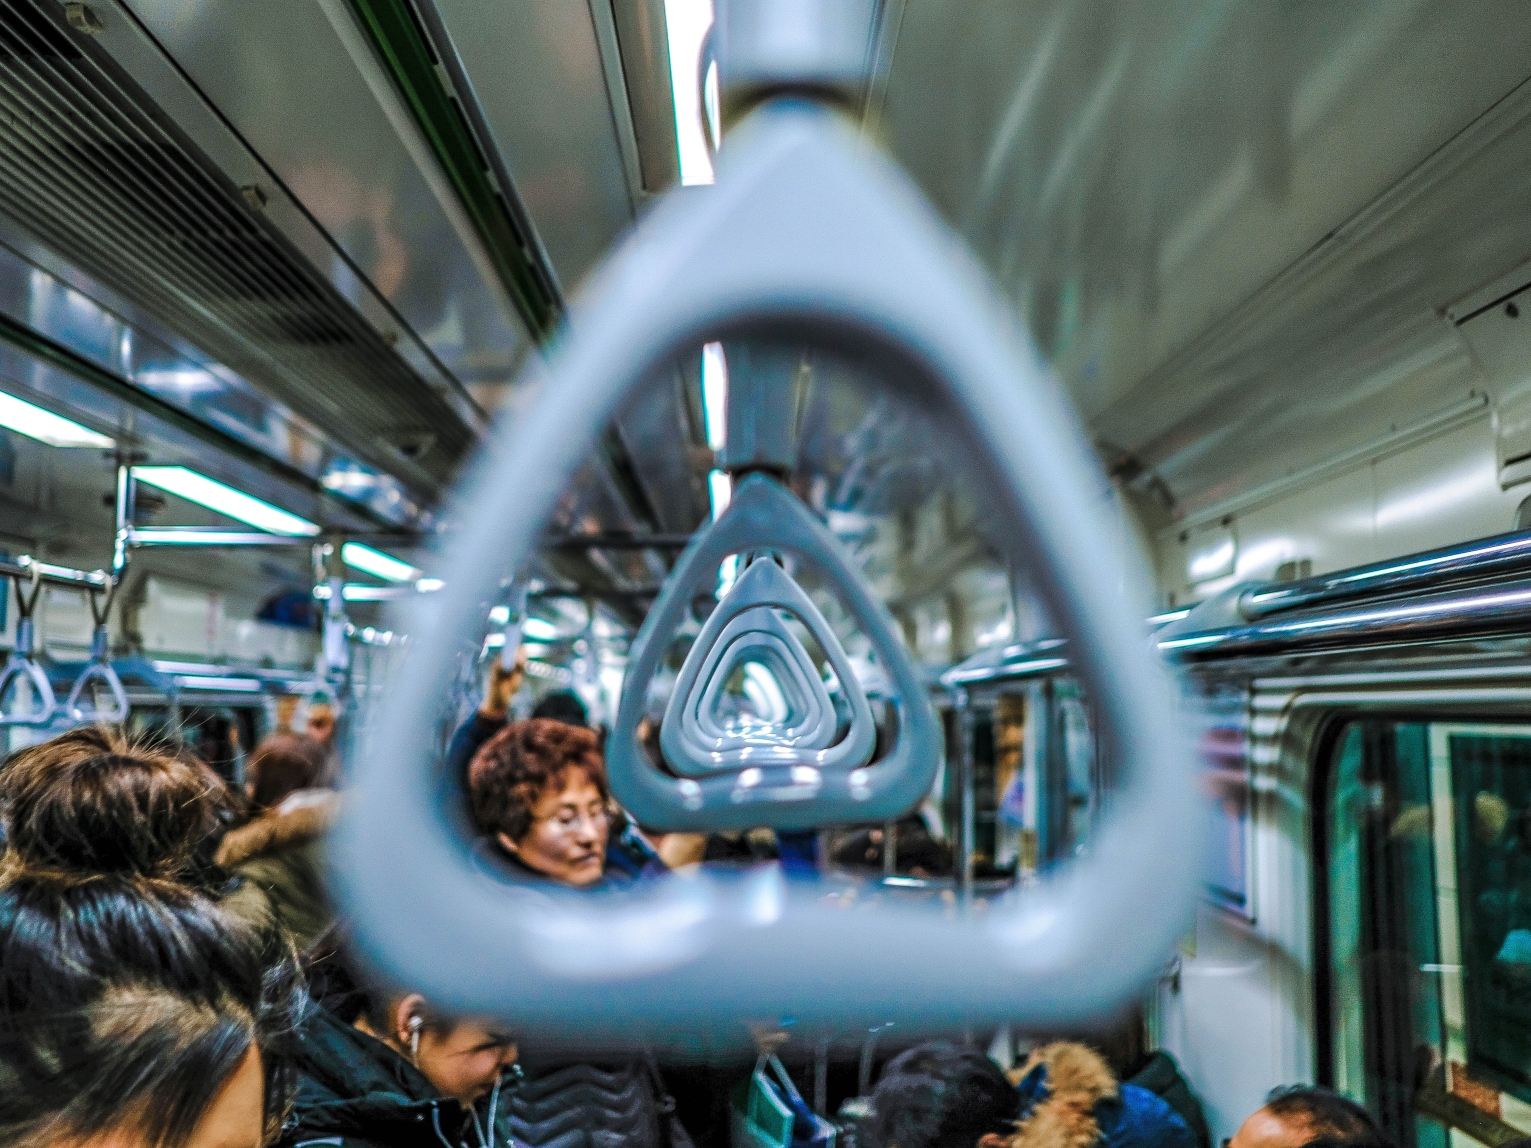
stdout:
<svg viewBox="0 0 1531 1148">
<path fill-rule="evenodd" d="M 0 770 L 0 874 L 58 869 L 216 892 L 219 840 L 243 801 L 201 761 L 107 726 L 31 745 Z"/>
</svg>

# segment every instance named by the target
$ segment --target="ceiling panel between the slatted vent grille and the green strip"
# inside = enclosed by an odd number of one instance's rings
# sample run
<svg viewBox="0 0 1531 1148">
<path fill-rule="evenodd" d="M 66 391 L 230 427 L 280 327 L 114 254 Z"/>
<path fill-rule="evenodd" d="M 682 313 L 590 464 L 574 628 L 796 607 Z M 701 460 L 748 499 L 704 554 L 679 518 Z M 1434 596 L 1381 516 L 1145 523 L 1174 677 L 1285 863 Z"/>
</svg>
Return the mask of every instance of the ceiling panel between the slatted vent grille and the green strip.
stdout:
<svg viewBox="0 0 1531 1148">
<path fill-rule="evenodd" d="M 481 406 L 498 406 L 525 325 L 349 8 L 130 6 L 338 248 L 318 265 L 349 274 L 357 295 L 375 289 Z"/>
</svg>

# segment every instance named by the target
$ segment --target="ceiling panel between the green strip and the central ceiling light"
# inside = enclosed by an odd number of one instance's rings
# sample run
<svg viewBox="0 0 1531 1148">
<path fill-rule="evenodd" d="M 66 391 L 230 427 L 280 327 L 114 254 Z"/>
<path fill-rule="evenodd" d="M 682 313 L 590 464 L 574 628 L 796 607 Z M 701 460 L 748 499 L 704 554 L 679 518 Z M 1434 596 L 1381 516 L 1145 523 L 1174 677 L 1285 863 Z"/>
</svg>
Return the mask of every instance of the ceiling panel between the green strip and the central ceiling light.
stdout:
<svg viewBox="0 0 1531 1148">
<path fill-rule="evenodd" d="M 592 17 L 606 3 L 609 24 L 609 0 L 433 3 L 559 282 L 573 289 L 632 225 L 641 179 L 619 139 Z"/>
</svg>

